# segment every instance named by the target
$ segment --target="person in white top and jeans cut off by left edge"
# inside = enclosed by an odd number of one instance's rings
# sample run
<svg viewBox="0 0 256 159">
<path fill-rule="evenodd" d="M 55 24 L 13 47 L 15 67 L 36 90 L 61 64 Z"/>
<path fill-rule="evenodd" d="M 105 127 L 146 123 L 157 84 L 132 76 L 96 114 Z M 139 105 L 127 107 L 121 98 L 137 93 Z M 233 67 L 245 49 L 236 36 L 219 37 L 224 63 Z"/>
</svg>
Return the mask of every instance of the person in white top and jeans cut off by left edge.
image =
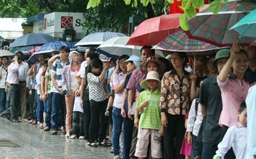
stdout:
<svg viewBox="0 0 256 159">
<path fill-rule="evenodd" d="M 0 116 L 7 109 L 7 92 L 5 92 L 6 78 L 8 73 L 8 57 L 2 57 L 2 67 L 0 67 Z"/>
</svg>

